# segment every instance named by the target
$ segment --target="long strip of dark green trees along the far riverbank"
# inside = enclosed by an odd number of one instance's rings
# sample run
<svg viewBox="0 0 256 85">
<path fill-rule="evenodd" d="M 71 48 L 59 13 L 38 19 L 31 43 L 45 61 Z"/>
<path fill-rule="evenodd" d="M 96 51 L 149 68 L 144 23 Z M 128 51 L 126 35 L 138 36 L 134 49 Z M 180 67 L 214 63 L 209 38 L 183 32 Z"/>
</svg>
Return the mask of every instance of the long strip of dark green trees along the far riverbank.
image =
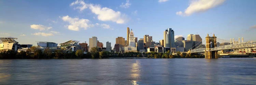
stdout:
<svg viewBox="0 0 256 85">
<path fill-rule="evenodd" d="M 103 59 L 103 58 L 204 58 L 204 55 L 196 53 L 180 53 L 172 55 L 170 51 L 166 53 L 157 52 L 127 52 L 124 54 L 111 53 L 102 51 L 97 48 L 92 48 L 91 52 L 84 54 L 82 50 L 76 52 L 64 52 L 62 49 L 52 52 L 49 48 L 41 51 L 39 47 L 33 46 L 26 52 L 15 52 L 14 50 L 0 50 L 0 59 Z"/>
</svg>

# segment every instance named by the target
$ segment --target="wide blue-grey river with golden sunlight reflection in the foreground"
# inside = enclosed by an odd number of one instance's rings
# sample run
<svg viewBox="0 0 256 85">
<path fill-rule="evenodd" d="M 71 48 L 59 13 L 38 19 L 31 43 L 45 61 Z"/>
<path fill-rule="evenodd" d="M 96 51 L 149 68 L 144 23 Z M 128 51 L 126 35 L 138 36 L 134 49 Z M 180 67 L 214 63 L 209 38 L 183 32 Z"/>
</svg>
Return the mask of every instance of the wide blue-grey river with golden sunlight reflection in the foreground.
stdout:
<svg viewBox="0 0 256 85">
<path fill-rule="evenodd" d="M 256 58 L 0 60 L 0 84 L 256 84 Z"/>
</svg>

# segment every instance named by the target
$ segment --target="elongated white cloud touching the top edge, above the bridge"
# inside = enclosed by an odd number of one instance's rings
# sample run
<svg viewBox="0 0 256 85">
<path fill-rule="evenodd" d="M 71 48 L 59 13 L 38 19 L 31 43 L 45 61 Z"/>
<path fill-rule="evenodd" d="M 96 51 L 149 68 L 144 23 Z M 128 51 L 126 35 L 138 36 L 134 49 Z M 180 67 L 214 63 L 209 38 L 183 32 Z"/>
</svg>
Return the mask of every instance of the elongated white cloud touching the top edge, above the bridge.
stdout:
<svg viewBox="0 0 256 85">
<path fill-rule="evenodd" d="M 193 0 L 185 12 L 176 12 L 176 15 L 190 16 L 193 13 L 204 12 L 213 7 L 221 5 L 225 0 Z"/>
</svg>

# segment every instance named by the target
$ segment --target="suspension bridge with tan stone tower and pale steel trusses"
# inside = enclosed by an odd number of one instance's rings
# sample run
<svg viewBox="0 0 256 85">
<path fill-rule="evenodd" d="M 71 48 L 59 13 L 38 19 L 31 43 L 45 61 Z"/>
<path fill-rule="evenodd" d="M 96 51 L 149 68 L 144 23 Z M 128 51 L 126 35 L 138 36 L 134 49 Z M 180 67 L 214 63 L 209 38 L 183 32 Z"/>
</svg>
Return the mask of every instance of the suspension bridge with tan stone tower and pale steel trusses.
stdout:
<svg viewBox="0 0 256 85">
<path fill-rule="evenodd" d="M 191 50 L 191 53 L 204 52 L 205 58 L 218 58 L 217 57 L 218 51 L 221 51 L 221 50 L 256 48 L 256 41 L 248 41 L 244 43 L 242 39 L 242 43 L 240 43 L 240 39 L 239 39 L 239 43 L 238 42 L 236 43 L 234 39 L 233 39 L 233 42 L 230 39 L 230 43 L 228 43 L 227 40 L 218 39 L 218 42 L 217 42 L 217 37 L 214 34 L 212 37 L 210 37 L 209 34 L 207 34 L 207 36 L 205 37 L 205 41 L 206 41 L 205 48 L 195 48 Z M 219 45 L 219 42 L 222 42 L 221 46 Z"/>
</svg>

